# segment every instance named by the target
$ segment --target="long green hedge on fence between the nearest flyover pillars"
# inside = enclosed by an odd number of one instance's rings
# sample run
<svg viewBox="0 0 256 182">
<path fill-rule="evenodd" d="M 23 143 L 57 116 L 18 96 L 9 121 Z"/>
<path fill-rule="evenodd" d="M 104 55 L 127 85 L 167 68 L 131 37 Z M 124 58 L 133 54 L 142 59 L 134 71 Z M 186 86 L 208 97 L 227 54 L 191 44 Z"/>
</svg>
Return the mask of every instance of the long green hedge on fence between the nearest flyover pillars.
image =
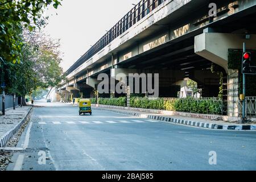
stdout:
<svg viewBox="0 0 256 182">
<path fill-rule="evenodd" d="M 194 98 L 177 98 L 164 101 L 163 98 L 148 100 L 148 98 L 130 98 L 130 106 L 144 109 L 158 109 L 170 111 L 182 111 L 201 114 L 222 114 L 220 100 L 196 100 Z"/>
</svg>

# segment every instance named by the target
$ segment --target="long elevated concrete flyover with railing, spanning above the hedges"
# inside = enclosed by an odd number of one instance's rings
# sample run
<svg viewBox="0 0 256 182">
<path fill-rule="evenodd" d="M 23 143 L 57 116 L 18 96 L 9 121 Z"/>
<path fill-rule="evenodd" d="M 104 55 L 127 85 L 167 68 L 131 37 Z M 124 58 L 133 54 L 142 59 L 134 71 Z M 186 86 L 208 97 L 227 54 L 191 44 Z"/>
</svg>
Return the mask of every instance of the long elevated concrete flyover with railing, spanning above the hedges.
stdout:
<svg viewBox="0 0 256 182">
<path fill-rule="evenodd" d="M 209 3 L 216 3 L 216 16 L 209 16 Z M 228 49 L 241 49 L 243 41 L 255 49 L 255 16 L 256 0 L 142 0 L 68 69 L 67 79 L 92 92 L 99 73 L 158 72 L 164 97 L 172 97 L 168 90 L 185 77 L 198 83 L 203 97 L 217 97 L 220 75 L 212 73 L 214 63 L 224 73 L 224 100 L 236 101 L 238 92 L 227 86 L 238 79 L 231 79 Z M 251 39 L 245 40 L 245 34 Z"/>
</svg>

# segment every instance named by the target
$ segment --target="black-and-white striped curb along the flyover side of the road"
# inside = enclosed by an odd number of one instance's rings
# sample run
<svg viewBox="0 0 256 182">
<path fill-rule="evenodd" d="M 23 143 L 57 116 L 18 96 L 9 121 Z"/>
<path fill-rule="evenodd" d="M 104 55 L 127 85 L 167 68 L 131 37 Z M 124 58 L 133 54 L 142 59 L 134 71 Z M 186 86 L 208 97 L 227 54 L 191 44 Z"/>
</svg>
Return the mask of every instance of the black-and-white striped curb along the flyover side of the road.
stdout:
<svg viewBox="0 0 256 182">
<path fill-rule="evenodd" d="M 202 127 L 205 129 L 254 130 L 254 131 L 256 131 L 256 125 L 217 125 L 217 124 L 213 124 L 213 123 L 188 121 L 188 120 L 184 120 L 184 119 L 177 119 L 174 117 L 166 117 L 166 116 L 161 116 L 161 115 L 141 114 L 141 113 L 136 113 L 134 111 L 122 111 L 122 110 L 116 110 L 116 109 L 113 110 L 113 109 L 102 108 L 102 107 L 96 107 L 96 108 L 101 109 L 101 110 L 108 110 L 108 111 L 112 111 L 114 113 L 119 113 L 119 114 L 124 114 L 124 115 L 131 115 L 131 116 L 140 117 L 140 118 L 154 119 L 154 120 L 163 121 L 163 122 L 172 122 L 172 123 L 193 126 L 193 127 Z"/>
</svg>

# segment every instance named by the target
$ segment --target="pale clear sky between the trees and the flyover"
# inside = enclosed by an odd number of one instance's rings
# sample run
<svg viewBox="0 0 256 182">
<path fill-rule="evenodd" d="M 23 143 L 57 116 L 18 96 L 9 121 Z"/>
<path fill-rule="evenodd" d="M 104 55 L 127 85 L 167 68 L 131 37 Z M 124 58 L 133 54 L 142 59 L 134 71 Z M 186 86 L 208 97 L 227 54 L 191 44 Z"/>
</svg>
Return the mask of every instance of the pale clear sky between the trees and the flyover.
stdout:
<svg viewBox="0 0 256 182">
<path fill-rule="evenodd" d="M 45 14 L 49 23 L 44 29 L 53 39 L 60 39 L 63 52 L 61 67 L 66 71 L 91 45 L 110 30 L 139 0 L 63 0 L 58 9 Z"/>
</svg>

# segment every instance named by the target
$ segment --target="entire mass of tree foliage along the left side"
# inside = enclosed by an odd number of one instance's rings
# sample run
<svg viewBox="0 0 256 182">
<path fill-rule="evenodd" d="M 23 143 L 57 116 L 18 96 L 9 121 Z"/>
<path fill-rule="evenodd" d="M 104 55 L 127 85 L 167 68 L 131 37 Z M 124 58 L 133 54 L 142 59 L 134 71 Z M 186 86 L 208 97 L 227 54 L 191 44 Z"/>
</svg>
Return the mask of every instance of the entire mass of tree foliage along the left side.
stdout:
<svg viewBox="0 0 256 182">
<path fill-rule="evenodd" d="M 36 28 L 46 24 L 43 10 L 49 5 L 57 8 L 60 1 L 0 0 L 0 76 L 7 93 L 25 96 L 61 81 L 56 47 L 35 36 Z"/>
</svg>

